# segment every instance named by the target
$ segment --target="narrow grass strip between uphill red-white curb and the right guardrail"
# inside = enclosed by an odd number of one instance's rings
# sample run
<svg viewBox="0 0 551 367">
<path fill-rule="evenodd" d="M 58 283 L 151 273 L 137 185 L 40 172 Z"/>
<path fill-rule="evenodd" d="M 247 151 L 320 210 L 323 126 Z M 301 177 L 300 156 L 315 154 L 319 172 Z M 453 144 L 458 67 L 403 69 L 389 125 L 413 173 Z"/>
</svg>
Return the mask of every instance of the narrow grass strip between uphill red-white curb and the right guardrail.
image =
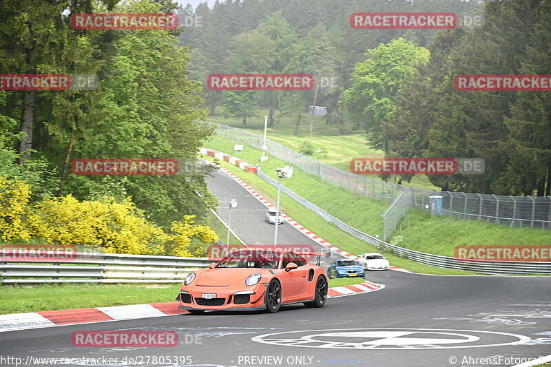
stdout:
<svg viewBox="0 0 551 367">
<path fill-rule="evenodd" d="M 204 158 L 212 160 L 210 157 L 204 157 Z M 242 171 L 238 167 L 234 165 L 230 165 L 227 162 L 220 162 L 220 164 L 222 165 L 222 167 L 229 169 L 229 171 L 232 171 L 233 174 L 236 174 L 239 178 L 247 182 L 247 184 L 251 185 L 251 187 L 253 187 L 264 198 L 266 198 L 270 202 L 275 203 L 274 198 L 277 195 L 277 189 L 275 187 L 264 182 L 264 180 L 256 176 L 256 174 L 251 174 L 249 172 Z M 297 172 L 297 174 L 299 174 L 299 172 Z M 294 178 L 295 176 L 293 176 L 292 179 Z M 359 199 L 361 198 L 357 198 L 357 200 Z M 349 198 L 349 200 L 352 200 L 352 199 Z M 306 209 L 305 207 L 302 207 L 302 205 L 298 204 L 298 202 L 295 202 L 295 200 L 292 200 L 291 198 L 289 198 L 284 194 L 282 194 L 280 198 L 280 208 L 282 211 L 287 213 L 287 215 L 291 216 L 291 218 L 293 218 L 294 220 L 297 220 L 304 227 L 313 231 L 316 235 L 319 235 L 324 240 L 331 242 L 331 244 L 337 247 L 340 247 L 340 249 L 343 249 L 344 251 L 348 251 L 349 253 L 357 255 L 357 254 L 366 253 L 366 252 L 380 252 L 380 253 L 383 253 L 388 258 L 388 260 L 391 262 L 393 266 L 409 269 L 410 271 L 415 271 L 417 273 L 446 274 L 446 275 L 474 275 L 475 274 L 475 273 L 470 273 L 466 271 L 459 271 L 459 270 L 453 270 L 453 269 L 440 269 L 435 266 L 419 264 L 412 260 L 399 258 L 398 256 L 393 255 L 392 253 L 381 251 L 380 249 L 377 249 L 371 246 L 370 244 L 366 244 L 365 242 L 344 233 L 343 231 L 335 227 L 333 224 L 326 222 L 320 216 L 315 215 L 315 213 L 313 213 L 309 209 Z M 343 209 L 346 211 L 346 207 L 344 207 Z"/>
</svg>

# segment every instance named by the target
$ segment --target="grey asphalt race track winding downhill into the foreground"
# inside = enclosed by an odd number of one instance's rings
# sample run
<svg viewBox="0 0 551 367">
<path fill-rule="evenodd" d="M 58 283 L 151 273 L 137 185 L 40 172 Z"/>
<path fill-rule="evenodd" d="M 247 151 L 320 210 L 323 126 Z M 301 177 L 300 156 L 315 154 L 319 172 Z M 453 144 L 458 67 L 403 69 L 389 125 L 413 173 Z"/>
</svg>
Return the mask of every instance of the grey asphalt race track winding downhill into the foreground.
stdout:
<svg viewBox="0 0 551 367">
<path fill-rule="evenodd" d="M 270 244 L 273 225 L 264 222 L 260 203 L 242 196 L 238 186 L 219 175 L 209 180 L 216 196 L 231 194 L 239 201 L 232 227 L 246 241 Z M 288 224 L 280 229 L 282 244 L 309 243 Z M 430 367 L 512 366 L 551 353 L 547 277 L 399 271 L 369 272 L 366 277 L 386 288 L 332 298 L 324 308 L 282 306 L 275 314 L 216 312 L 4 332 L 0 355 L 23 361 L 29 356 L 112 359 L 73 366 Z M 77 347 L 72 334 L 79 331 L 176 331 L 178 345 Z M 129 364 L 124 358 L 142 363 Z"/>
</svg>

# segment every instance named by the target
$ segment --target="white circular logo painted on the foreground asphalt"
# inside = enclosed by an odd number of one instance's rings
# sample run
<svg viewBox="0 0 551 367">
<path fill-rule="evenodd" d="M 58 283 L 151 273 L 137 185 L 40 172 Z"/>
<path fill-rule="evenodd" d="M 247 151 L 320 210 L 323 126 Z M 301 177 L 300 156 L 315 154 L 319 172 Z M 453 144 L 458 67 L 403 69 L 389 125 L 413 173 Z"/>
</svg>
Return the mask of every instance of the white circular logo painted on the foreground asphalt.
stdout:
<svg viewBox="0 0 551 367">
<path fill-rule="evenodd" d="M 453 349 L 523 344 L 524 335 L 497 331 L 432 328 L 353 328 L 285 331 L 258 335 L 253 342 L 327 349 Z"/>
</svg>

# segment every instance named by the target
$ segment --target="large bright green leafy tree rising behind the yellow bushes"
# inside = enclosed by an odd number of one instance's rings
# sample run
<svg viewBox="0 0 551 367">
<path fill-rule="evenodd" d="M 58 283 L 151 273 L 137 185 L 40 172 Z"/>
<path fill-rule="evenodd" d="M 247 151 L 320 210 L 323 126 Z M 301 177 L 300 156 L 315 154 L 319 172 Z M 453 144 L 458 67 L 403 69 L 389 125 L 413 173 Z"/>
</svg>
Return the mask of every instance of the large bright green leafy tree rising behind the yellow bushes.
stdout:
<svg viewBox="0 0 551 367">
<path fill-rule="evenodd" d="M 121 12 L 158 12 L 158 4 L 140 1 Z M 176 45 L 164 30 L 123 32 L 114 41 L 116 54 L 97 91 L 95 107 L 101 112 L 90 126 L 88 138 L 74 147 L 74 158 L 176 158 L 195 159 L 211 127 L 198 122 L 199 85 L 187 77 L 189 50 Z M 202 172 L 176 176 L 67 177 L 65 192 L 79 199 L 116 190 L 132 196 L 149 219 L 168 225 L 174 218 L 194 214 L 199 218 L 214 204 Z M 197 192 L 202 198 L 197 196 Z"/>
</svg>

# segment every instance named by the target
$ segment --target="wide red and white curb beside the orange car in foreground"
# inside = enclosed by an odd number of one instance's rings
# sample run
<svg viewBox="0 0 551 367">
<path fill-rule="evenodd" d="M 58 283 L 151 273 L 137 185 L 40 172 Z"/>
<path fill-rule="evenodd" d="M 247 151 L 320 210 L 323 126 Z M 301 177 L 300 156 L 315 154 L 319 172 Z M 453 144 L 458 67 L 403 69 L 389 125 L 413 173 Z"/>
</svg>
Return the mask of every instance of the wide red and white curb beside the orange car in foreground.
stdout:
<svg viewBox="0 0 551 367">
<path fill-rule="evenodd" d="M 344 297 L 380 291 L 383 288 L 383 284 L 372 282 L 349 286 L 335 286 L 329 289 L 327 297 Z M 62 311 L 11 313 L 9 315 L 0 315 L 0 332 L 186 314 L 187 311 L 178 309 L 179 304 L 180 302 L 165 302 L 131 304 L 129 306 L 76 308 L 74 310 Z"/>
</svg>

